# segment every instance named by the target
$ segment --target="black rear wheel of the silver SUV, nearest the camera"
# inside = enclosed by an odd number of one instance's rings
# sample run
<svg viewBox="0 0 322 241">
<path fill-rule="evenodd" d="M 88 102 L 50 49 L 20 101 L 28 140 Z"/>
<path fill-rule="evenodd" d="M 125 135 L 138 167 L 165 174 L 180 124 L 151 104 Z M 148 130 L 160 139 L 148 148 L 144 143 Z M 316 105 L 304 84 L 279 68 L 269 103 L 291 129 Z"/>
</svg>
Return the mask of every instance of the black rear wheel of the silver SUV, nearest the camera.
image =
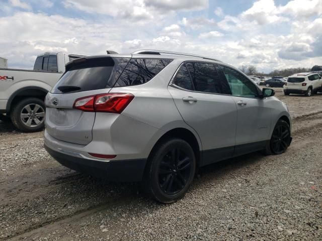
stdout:
<svg viewBox="0 0 322 241">
<path fill-rule="evenodd" d="M 149 155 L 143 179 L 145 192 L 162 203 L 182 198 L 196 171 L 196 158 L 191 146 L 182 139 L 166 139 Z"/>
</svg>

